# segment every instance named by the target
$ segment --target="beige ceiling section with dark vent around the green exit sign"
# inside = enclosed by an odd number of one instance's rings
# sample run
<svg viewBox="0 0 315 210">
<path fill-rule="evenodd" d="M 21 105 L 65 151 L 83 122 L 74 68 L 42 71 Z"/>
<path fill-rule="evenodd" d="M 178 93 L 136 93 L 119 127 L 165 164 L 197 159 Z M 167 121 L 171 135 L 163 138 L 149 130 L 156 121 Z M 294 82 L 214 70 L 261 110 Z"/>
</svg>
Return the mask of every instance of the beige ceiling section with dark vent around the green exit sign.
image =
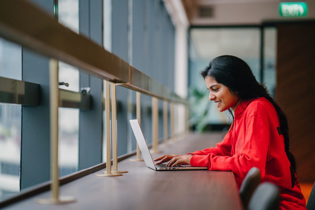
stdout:
<svg viewBox="0 0 315 210">
<path fill-rule="evenodd" d="M 181 0 L 191 26 L 259 25 L 268 20 L 315 18 L 315 0 L 304 0 L 307 17 L 280 17 L 280 0 Z M 285 2 L 292 2 L 287 0 Z M 294 1 L 296 2 L 296 1 Z"/>
</svg>

